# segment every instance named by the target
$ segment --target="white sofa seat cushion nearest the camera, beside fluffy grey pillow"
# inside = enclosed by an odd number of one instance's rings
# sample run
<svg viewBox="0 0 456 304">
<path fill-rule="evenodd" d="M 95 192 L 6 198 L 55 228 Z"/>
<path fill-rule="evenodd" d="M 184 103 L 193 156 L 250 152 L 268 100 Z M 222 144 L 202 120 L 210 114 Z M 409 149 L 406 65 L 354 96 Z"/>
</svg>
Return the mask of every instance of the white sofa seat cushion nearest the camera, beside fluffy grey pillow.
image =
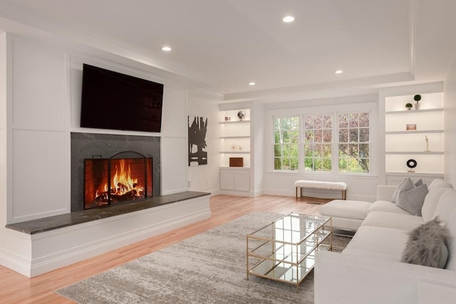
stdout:
<svg viewBox="0 0 456 304">
<path fill-rule="evenodd" d="M 407 239 L 408 231 L 402 229 L 361 226 L 343 253 L 367 251 L 388 256 L 389 261 L 400 261 Z"/>
</svg>

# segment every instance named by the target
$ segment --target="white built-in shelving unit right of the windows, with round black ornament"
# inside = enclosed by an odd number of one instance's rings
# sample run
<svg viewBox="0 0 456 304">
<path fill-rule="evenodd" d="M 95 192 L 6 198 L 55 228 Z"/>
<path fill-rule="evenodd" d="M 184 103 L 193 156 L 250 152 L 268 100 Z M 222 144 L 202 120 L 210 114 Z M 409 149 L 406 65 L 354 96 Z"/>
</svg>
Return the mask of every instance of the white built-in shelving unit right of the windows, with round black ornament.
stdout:
<svg viewBox="0 0 456 304">
<path fill-rule="evenodd" d="M 415 103 L 413 96 L 385 98 L 385 172 L 390 184 L 405 176 L 443 177 L 443 93 L 422 94 L 420 110 L 406 110 L 406 103 Z"/>
</svg>

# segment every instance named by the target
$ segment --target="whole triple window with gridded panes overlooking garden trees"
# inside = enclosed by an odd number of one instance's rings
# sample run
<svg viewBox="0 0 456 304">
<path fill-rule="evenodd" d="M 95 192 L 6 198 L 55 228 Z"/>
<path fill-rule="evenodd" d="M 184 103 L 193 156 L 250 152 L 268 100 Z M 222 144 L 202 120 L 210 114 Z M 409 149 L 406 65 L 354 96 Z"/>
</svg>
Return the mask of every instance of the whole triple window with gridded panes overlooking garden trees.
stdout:
<svg viewBox="0 0 456 304">
<path fill-rule="evenodd" d="M 370 173 L 370 117 L 334 110 L 273 117 L 274 170 Z"/>
</svg>

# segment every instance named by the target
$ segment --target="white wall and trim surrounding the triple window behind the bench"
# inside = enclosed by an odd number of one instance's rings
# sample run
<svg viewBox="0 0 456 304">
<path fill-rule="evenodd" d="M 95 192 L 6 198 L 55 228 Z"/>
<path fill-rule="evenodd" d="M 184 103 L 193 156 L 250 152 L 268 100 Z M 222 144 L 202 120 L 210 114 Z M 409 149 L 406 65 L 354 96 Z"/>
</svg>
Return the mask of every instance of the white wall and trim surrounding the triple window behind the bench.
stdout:
<svg viewBox="0 0 456 304">
<path fill-rule="evenodd" d="M 384 157 L 381 154 L 377 154 L 378 147 L 376 145 L 375 130 L 377 129 L 377 95 L 360 95 L 350 96 L 344 98 L 330 98 L 321 100 L 302 100 L 299 102 L 290 103 L 271 103 L 266 105 L 264 112 L 264 120 L 267 123 L 264 124 L 264 193 L 265 194 L 276 194 L 284 196 L 295 196 L 296 188 L 294 182 L 297 179 L 315 179 L 328 182 L 346 182 L 348 184 L 347 199 L 362 200 L 362 201 L 373 201 L 375 199 L 376 187 L 380 183 L 378 172 L 382 168 L 378 168 L 378 158 Z M 304 113 L 308 111 L 316 111 L 318 109 L 327 111 L 338 107 L 343 109 L 344 107 L 350 110 L 356 110 L 363 108 L 371 110 L 371 126 L 372 134 L 371 141 L 373 145 L 371 147 L 371 155 L 374 162 L 371 164 L 370 175 L 356 175 L 356 174 L 331 174 L 326 172 L 274 172 L 272 164 L 272 149 L 271 149 L 271 115 L 273 113 L 284 114 L 286 113 Z M 307 192 L 309 196 L 324 197 L 341 199 L 341 192 L 322 192 L 314 189 L 309 189 Z"/>
</svg>

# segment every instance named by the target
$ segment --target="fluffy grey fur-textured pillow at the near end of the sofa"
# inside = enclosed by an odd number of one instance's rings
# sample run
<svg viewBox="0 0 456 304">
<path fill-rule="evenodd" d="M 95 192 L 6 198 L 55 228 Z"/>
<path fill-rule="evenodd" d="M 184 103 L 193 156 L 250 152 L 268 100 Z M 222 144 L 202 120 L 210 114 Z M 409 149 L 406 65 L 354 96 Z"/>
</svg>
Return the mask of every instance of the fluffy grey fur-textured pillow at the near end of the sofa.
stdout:
<svg viewBox="0 0 456 304">
<path fill-rule="evenodd" d="M 409 233 L 401 262 L 444 268 L 448 259 L 445 239 L 450 239 L 450 231 L 442 226 L 438 217 L 420 225 Z"/>
</svg>

